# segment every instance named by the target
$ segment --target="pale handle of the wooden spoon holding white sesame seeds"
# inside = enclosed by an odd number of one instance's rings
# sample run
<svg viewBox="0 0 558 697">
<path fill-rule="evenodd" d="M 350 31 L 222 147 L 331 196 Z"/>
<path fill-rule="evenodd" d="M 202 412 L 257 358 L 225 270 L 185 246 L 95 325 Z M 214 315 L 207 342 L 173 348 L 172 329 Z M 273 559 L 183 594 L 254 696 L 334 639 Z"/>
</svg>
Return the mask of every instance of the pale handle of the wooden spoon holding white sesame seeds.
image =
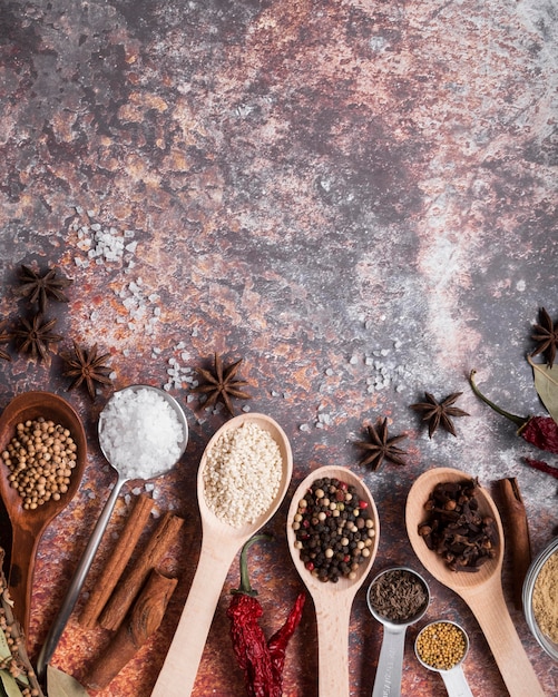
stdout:
<svg viewBox="0 0 558 697">
<path fill-rule="evenodd" d="M 238 549 L 204 538 L 188 599 L 151 697 L 192 694 L 228 569 Z"/>
</svg>

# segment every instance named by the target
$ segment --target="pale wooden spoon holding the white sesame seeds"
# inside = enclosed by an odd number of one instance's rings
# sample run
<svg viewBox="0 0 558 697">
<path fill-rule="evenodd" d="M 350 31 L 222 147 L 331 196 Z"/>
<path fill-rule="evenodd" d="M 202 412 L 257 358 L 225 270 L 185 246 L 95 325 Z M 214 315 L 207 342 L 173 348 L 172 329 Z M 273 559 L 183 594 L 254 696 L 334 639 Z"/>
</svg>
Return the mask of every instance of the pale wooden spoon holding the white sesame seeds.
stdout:
<svg viewBox="0 0 558 697">
<path fill-rule="evenodd" d="M 267 511 L 252 523 L 233 528 L 218 519 L 205 502 L 204 468 L 208 451 L 223 432 L 237 429 L 247 422 L 255 423 L 266 430 L 280 446 L 283 477 L 277 494 Z M 207 443 L 197 473 L 197 499 L 202 516 L 199 561 L 178 627 L 151 697 L 168 697 L 169 695 L 186 697 L 192 694 L 207 635 L 231 565 L 244 542 L 265 526 L 281 505 L 292 474 L 291 444 L 281 426 L 264 414 L 242 414 L 231 419 Z"/>
</svg>

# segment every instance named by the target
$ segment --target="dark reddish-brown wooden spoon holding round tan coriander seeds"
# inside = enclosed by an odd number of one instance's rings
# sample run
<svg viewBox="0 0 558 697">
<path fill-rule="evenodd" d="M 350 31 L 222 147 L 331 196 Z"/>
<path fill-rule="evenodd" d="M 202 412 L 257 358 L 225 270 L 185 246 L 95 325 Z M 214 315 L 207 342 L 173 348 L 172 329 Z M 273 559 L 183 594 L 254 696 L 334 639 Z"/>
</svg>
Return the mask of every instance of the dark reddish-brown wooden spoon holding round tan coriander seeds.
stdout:
<svg viewBox="0 0 558 697">
<path fill-rule="evenodd" d="M 77 461 L 68 491 L 59 501 L 50 499 L 35 510 L 26 510 L 20 494 L 10 485 L 10 471 L 0 464 L 0 494 L 12 527 L 11 563 L 8 586 L 13 600 L 13 611 L 28 635 L 31 590 L 37 548 L 45 528 L 62 511 L 81 483 L 87 461 L 87 441 L 84 425 L 74 408 L 61 396 L 50 392 L 25 392 L 16 396 L 0 416 L 0 452 L 16 435 L 18 423 L 43 416 L 68 429 L 77 445 Z"/>
</svg>

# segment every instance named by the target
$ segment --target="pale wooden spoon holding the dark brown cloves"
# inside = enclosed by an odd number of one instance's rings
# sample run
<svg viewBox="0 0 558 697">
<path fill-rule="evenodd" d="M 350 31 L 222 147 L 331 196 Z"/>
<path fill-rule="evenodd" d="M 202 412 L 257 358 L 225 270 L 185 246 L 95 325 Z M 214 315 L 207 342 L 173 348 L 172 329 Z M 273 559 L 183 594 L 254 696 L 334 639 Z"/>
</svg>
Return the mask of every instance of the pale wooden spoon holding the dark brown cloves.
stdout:
<svg viewBox="0 0 558 697">
<path fill-rule="evenodd" d="M 492 650 L 506 687 L 511 697 L 544 697 L 542 688 L 525 652 L 511 621 L 501 586 L 503 560 L 503 529 L 498 509 L 490 494 L 478 489 L 479 510 L 491 516 L 497 524 L 500 543 L 497 557 L 476 572 L 451 571 L 435 552 L 428 549 L 419 536 L 419 524 L 427 516 L 424 503 L 439 482 L 456 482 L 473 479 L 451 468 L 434 468 L 421 474 L 411 487 L 407 500 L 407 532 L 417 557 L 424 568 L 461 598 L 471 608 Z"/>
</svg>

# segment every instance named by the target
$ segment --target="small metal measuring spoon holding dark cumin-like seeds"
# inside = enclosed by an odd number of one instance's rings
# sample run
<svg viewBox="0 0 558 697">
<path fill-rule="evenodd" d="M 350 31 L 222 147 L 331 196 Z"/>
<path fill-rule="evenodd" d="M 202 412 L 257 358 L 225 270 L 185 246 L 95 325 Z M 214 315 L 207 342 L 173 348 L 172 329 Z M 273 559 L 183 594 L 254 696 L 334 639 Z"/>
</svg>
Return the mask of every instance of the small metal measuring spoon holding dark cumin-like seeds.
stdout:
<svg viewBox="0 0 558 697">
<path fill-rule="evenodd" d="M 371 599 L 374 585 L 381 579 L 382 576 L 393 571 L 405 571 L 422 586 L 425 592 L 425 601 L 419 610 L 412 617 L 408 617 L 400 622 L 392 621 L 383 615 L 380 615 L 380 612 L 378 612 L 374 608 L 374 603 Z M 401 695 L 401 676 L 403 671 L 403 652 L 407 628 L 419 621 L 428 610 L 428 606 L 430 603 L 430 590 L 428 583 L 422 576 L 417 573 L 417 571 L 407 567 L 384 569 L 374 577 L 372 583 L 369 586 L 366 591 L 366 602 L 372 616 L 383 625 L 382 648 L 380 649 L 380 658 L 378 660 L 372 697 L 399 697 Z"/>
</svg>

